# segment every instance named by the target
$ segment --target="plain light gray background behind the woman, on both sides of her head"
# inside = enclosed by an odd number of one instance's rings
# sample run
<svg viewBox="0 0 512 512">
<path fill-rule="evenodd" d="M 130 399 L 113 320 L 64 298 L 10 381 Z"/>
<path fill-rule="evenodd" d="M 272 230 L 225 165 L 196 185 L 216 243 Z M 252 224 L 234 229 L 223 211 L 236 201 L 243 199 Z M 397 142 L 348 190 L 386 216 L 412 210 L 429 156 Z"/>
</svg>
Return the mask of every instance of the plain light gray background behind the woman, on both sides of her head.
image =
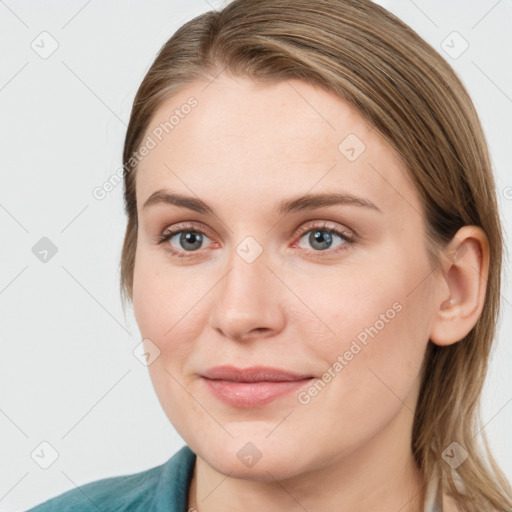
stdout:
<svg viewBox="0 0 512 512">
<path fill-rule="evenodd" d="M 512 2 L 380 3 L 438 49 L 469 89 L 510 232 Z M 123 317 L 122 186 L 101 201 L 92 190 L 121 165 L 131 102 L 156 52 L 185 21 L 220 5 L 0 0 L 1 511 L 24 510 L 76 485 L 156 466 L 184 444 L 160 407 L 147 368 L 132 353 L 141 340 L 131 311 Z M 46 59 L 31 47 L 50 48 L 43 31 L 59 45 Z M 453 31 L 469 43 L 456 59 L 441 47 Z M 42 237 L 58 249 L 46 263 L 32 252 Z M 506 265 L 483 419 L 512 480 Z M 43 441 L 58 452 L 48 469 L 31 458 L 34 450 L 42 462 L 51 455 Z"/>
</svg>

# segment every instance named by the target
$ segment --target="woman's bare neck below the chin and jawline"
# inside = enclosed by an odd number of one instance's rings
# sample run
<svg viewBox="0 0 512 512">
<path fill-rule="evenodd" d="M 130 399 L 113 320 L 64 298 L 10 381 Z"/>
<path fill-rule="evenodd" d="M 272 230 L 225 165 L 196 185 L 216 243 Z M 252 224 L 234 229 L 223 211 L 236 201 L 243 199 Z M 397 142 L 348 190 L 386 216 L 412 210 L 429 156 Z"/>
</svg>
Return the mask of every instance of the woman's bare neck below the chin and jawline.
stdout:
<svg viewBox="0 0 512 512">
<path fill-rule="evenodd" d="M 398 416 L 402 414 L 410 415 L 410 411 L 404 408 Z M 400 431 L 403 425 L 404 418 L 396 417 L 384 431 L 350 454 L 281 480 L 226 477 L 197 456 L 188 510 L 423 512 L 424 477 L 414 462 L 410 437 Z"/>
</svg>

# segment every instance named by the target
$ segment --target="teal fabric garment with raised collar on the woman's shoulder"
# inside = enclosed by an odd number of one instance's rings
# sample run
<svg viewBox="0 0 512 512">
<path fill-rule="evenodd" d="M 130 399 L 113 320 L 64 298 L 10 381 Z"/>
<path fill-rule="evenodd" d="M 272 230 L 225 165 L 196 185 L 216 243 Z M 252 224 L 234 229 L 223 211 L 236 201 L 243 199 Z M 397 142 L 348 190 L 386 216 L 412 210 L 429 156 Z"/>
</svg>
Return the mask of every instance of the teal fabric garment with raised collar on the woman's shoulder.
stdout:
<svg viewBox="0 0 512 512">
<path fill-rule="evenodd" d="M 179 510 L 194 462 L 195 454 L 184 446 L 160 466 L 81 485 L 26 512 Z"/>
</svg>

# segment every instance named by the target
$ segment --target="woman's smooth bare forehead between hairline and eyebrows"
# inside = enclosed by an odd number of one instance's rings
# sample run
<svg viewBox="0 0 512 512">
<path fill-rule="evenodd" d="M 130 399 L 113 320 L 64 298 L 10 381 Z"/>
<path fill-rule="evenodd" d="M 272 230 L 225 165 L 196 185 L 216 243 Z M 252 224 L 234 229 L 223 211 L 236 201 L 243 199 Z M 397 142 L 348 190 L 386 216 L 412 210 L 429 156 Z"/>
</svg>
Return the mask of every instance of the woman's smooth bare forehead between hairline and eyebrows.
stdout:
<svg viewBox="0 0 512 512">
<path fill-rule="evenodd" d="M 348 103 L 300 80 L 261 84 L 221 74 L 193 83 L 160 105 L 148 138 L 154 147 L 137 171 L 139 208 L 161 188 L 212 203 L 236 189 L 241 205 L 249 195 L 312 188 L 364 194 L 383 209 L 418 205 L 387 141 Z"/>
</svg>

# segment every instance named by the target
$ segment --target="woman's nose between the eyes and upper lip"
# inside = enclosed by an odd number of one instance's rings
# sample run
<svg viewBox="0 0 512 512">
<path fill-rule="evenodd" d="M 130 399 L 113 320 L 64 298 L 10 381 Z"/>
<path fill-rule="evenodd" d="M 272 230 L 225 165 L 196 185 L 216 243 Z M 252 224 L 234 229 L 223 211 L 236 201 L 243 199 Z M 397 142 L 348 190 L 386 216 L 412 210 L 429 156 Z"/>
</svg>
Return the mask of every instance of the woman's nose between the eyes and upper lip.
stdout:
<svg viewBox="0 0 512 512">
<path fill-rule="evenodd" d="M 283 288 L 265 252 L 251 262 L 234 251 L 224 277 L 215 287 L 211 326 L 237 341 L 279 333 L 285 325 Z"/>
</svg>

